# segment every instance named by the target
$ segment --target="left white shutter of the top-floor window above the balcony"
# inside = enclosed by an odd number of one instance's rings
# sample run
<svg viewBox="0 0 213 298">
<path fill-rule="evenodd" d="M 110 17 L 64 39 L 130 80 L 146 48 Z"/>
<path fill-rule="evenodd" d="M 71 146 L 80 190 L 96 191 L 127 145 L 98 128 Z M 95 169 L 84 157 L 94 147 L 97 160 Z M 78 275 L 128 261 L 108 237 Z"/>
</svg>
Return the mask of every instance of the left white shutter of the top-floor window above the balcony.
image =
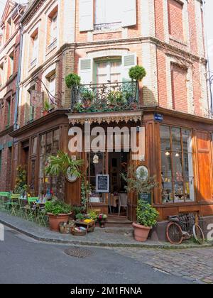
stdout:
<svg viewBox="0 0 213 298">
<path fill-rule="evenodd" d="M 93 25 L 93 0 L 79 1 L 79 26 L 80 32 L 92 31 Z"/>
</svg>

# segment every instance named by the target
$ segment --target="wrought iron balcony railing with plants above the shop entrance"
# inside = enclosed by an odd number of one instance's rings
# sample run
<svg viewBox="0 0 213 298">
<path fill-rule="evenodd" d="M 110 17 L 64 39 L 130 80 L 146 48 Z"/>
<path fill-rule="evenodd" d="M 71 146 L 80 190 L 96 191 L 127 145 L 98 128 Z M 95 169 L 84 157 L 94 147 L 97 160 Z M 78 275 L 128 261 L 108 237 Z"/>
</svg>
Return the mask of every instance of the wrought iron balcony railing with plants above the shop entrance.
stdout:
<svg viewBox="0 0 213 298">
<path fill-rule="evenodd" d="M 72 87 L 72 112 L 92 113 L 134 109 L 138 109 L 137 82 L 113 82 Z"/>
</svg>

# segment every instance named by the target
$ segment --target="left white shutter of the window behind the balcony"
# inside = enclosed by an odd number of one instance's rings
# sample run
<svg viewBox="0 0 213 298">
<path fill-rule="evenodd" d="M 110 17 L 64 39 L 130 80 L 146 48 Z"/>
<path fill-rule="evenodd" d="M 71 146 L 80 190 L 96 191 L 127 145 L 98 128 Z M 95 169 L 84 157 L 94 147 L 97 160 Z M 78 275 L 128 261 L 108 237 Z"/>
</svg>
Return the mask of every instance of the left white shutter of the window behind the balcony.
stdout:
<svg viewBox="0 0 213 298">
<path fill-rule="evenodd" d="M 93 60 L 90 58 L 80 58 L 79 60 L 79 75 L 81 84 L 92 84 L 93 77 Z"/>
</svg>

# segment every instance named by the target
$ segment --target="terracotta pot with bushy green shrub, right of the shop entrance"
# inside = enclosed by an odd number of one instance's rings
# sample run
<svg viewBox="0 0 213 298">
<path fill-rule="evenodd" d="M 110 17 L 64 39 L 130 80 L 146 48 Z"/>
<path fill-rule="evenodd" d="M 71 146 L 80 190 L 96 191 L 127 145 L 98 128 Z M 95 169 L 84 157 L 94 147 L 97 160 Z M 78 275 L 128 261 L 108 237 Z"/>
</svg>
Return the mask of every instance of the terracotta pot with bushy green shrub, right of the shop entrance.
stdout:
<svg viewBox="0 0 213 298">
<path fill-rule="evenodd" d="M 147 202 L 138 199 L 136 208 L 137 221 L 132 224 L 136 241 L 144 242 L 148 238 L 148 233 L 156 225 L 158 211 Z"/>
</svg>

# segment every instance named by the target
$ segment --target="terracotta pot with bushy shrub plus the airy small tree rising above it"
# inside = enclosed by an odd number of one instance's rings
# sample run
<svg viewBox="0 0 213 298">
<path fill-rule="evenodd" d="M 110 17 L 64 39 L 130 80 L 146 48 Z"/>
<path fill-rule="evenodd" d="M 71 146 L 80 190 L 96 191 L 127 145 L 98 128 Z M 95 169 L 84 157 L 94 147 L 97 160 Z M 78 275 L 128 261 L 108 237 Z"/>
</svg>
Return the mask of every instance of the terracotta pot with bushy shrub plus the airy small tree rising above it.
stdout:
<svg viewBox="0 0 213 298">
<path fill-rule="evenodd" d="M 145 170 L 130 169 L 128 175 L 122 174 L 121 177 L 126 181 L 126 190 L 135 192 L 138 196 L 136 208 L 137 221 L 133 223 L 134 236 L 136 241 L 146 241 L 148 233 L 157 223 L 158 211 L 147 202 L 141 199 L 141 194 L 151 192 L 154 187 L 158 187 L 154 177 L 147 175 Z"/>
</svg>

